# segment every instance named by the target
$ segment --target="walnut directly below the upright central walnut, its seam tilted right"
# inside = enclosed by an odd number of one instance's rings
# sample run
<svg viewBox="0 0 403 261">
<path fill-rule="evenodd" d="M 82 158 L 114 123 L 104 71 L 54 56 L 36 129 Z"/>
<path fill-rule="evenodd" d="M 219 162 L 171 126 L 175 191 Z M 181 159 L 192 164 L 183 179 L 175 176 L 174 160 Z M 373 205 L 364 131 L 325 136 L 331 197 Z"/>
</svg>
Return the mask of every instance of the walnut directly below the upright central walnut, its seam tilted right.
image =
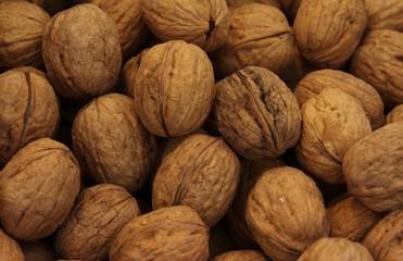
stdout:
<svg viewBox="0 0 403 261">
<path fill-rule="evenodd" d="M 238 157 L 222 138 L 194 134 L 163 159 L 152 185 L 152 207 L 188 206 L 211 227 L 230 207 L 239 173 Z"/>
</svg>

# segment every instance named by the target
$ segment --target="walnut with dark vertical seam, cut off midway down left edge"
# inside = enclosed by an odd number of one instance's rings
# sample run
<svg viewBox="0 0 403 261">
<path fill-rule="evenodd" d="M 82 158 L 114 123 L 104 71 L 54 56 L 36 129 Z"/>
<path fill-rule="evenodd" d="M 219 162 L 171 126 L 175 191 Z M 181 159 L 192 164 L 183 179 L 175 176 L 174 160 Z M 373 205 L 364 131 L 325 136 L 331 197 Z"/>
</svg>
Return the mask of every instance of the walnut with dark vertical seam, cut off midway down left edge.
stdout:
<svg viewBox="0 0 403 261">
<path fill-rule="evenodd" d="M 30 71 L 0 74 L 0 165 L 29 141 L 52 137 L 59 104 L 49 82 Z"/>
</svg>

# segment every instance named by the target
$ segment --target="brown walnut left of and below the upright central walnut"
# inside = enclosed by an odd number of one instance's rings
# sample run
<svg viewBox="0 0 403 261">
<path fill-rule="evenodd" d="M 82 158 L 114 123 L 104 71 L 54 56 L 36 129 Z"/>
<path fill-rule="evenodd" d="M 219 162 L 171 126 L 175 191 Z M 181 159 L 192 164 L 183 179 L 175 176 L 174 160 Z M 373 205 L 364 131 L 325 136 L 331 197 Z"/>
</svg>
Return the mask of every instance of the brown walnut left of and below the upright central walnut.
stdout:
<svg viewBox="0 0 403 261">
<path fill-rule="evenodd" d="M 72 137 L 81 169 L 97 183 L 136 192 L 153 171 L 155 137 L 142 126 L 129 97 L 110 94 L 93 99 L 75 117 Z"/>
</svg>

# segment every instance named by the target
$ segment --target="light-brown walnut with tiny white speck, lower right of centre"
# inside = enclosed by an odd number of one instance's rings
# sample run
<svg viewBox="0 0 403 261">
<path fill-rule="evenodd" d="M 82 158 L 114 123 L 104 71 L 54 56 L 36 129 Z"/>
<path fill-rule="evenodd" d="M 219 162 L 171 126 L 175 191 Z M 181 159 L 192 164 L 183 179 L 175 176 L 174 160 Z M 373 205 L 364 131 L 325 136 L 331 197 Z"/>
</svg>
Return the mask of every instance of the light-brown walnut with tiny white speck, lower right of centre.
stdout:
<svg viewBox="0 0 403 261">
<path fill-rule="evenodd" d="M 274 261 L 295 260 L 329 235 L 320 190 L 298 169 L 265 171 L 249 194 L 247 222 L 253 238 Z"/>
</svg>

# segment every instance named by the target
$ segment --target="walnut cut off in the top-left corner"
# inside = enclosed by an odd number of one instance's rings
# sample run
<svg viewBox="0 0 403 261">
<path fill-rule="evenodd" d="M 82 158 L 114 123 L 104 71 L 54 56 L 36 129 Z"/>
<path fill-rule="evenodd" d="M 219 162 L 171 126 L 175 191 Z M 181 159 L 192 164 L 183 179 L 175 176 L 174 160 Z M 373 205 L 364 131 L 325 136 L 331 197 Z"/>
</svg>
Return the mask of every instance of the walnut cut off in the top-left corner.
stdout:
<svg viewBox="0 0 403 261">
<path fill-rule="evenodd" d="M 42 36 L 49 20 L 34 3 L 0 2 L 0 69 L 41 66 Z"/>
</svg>

